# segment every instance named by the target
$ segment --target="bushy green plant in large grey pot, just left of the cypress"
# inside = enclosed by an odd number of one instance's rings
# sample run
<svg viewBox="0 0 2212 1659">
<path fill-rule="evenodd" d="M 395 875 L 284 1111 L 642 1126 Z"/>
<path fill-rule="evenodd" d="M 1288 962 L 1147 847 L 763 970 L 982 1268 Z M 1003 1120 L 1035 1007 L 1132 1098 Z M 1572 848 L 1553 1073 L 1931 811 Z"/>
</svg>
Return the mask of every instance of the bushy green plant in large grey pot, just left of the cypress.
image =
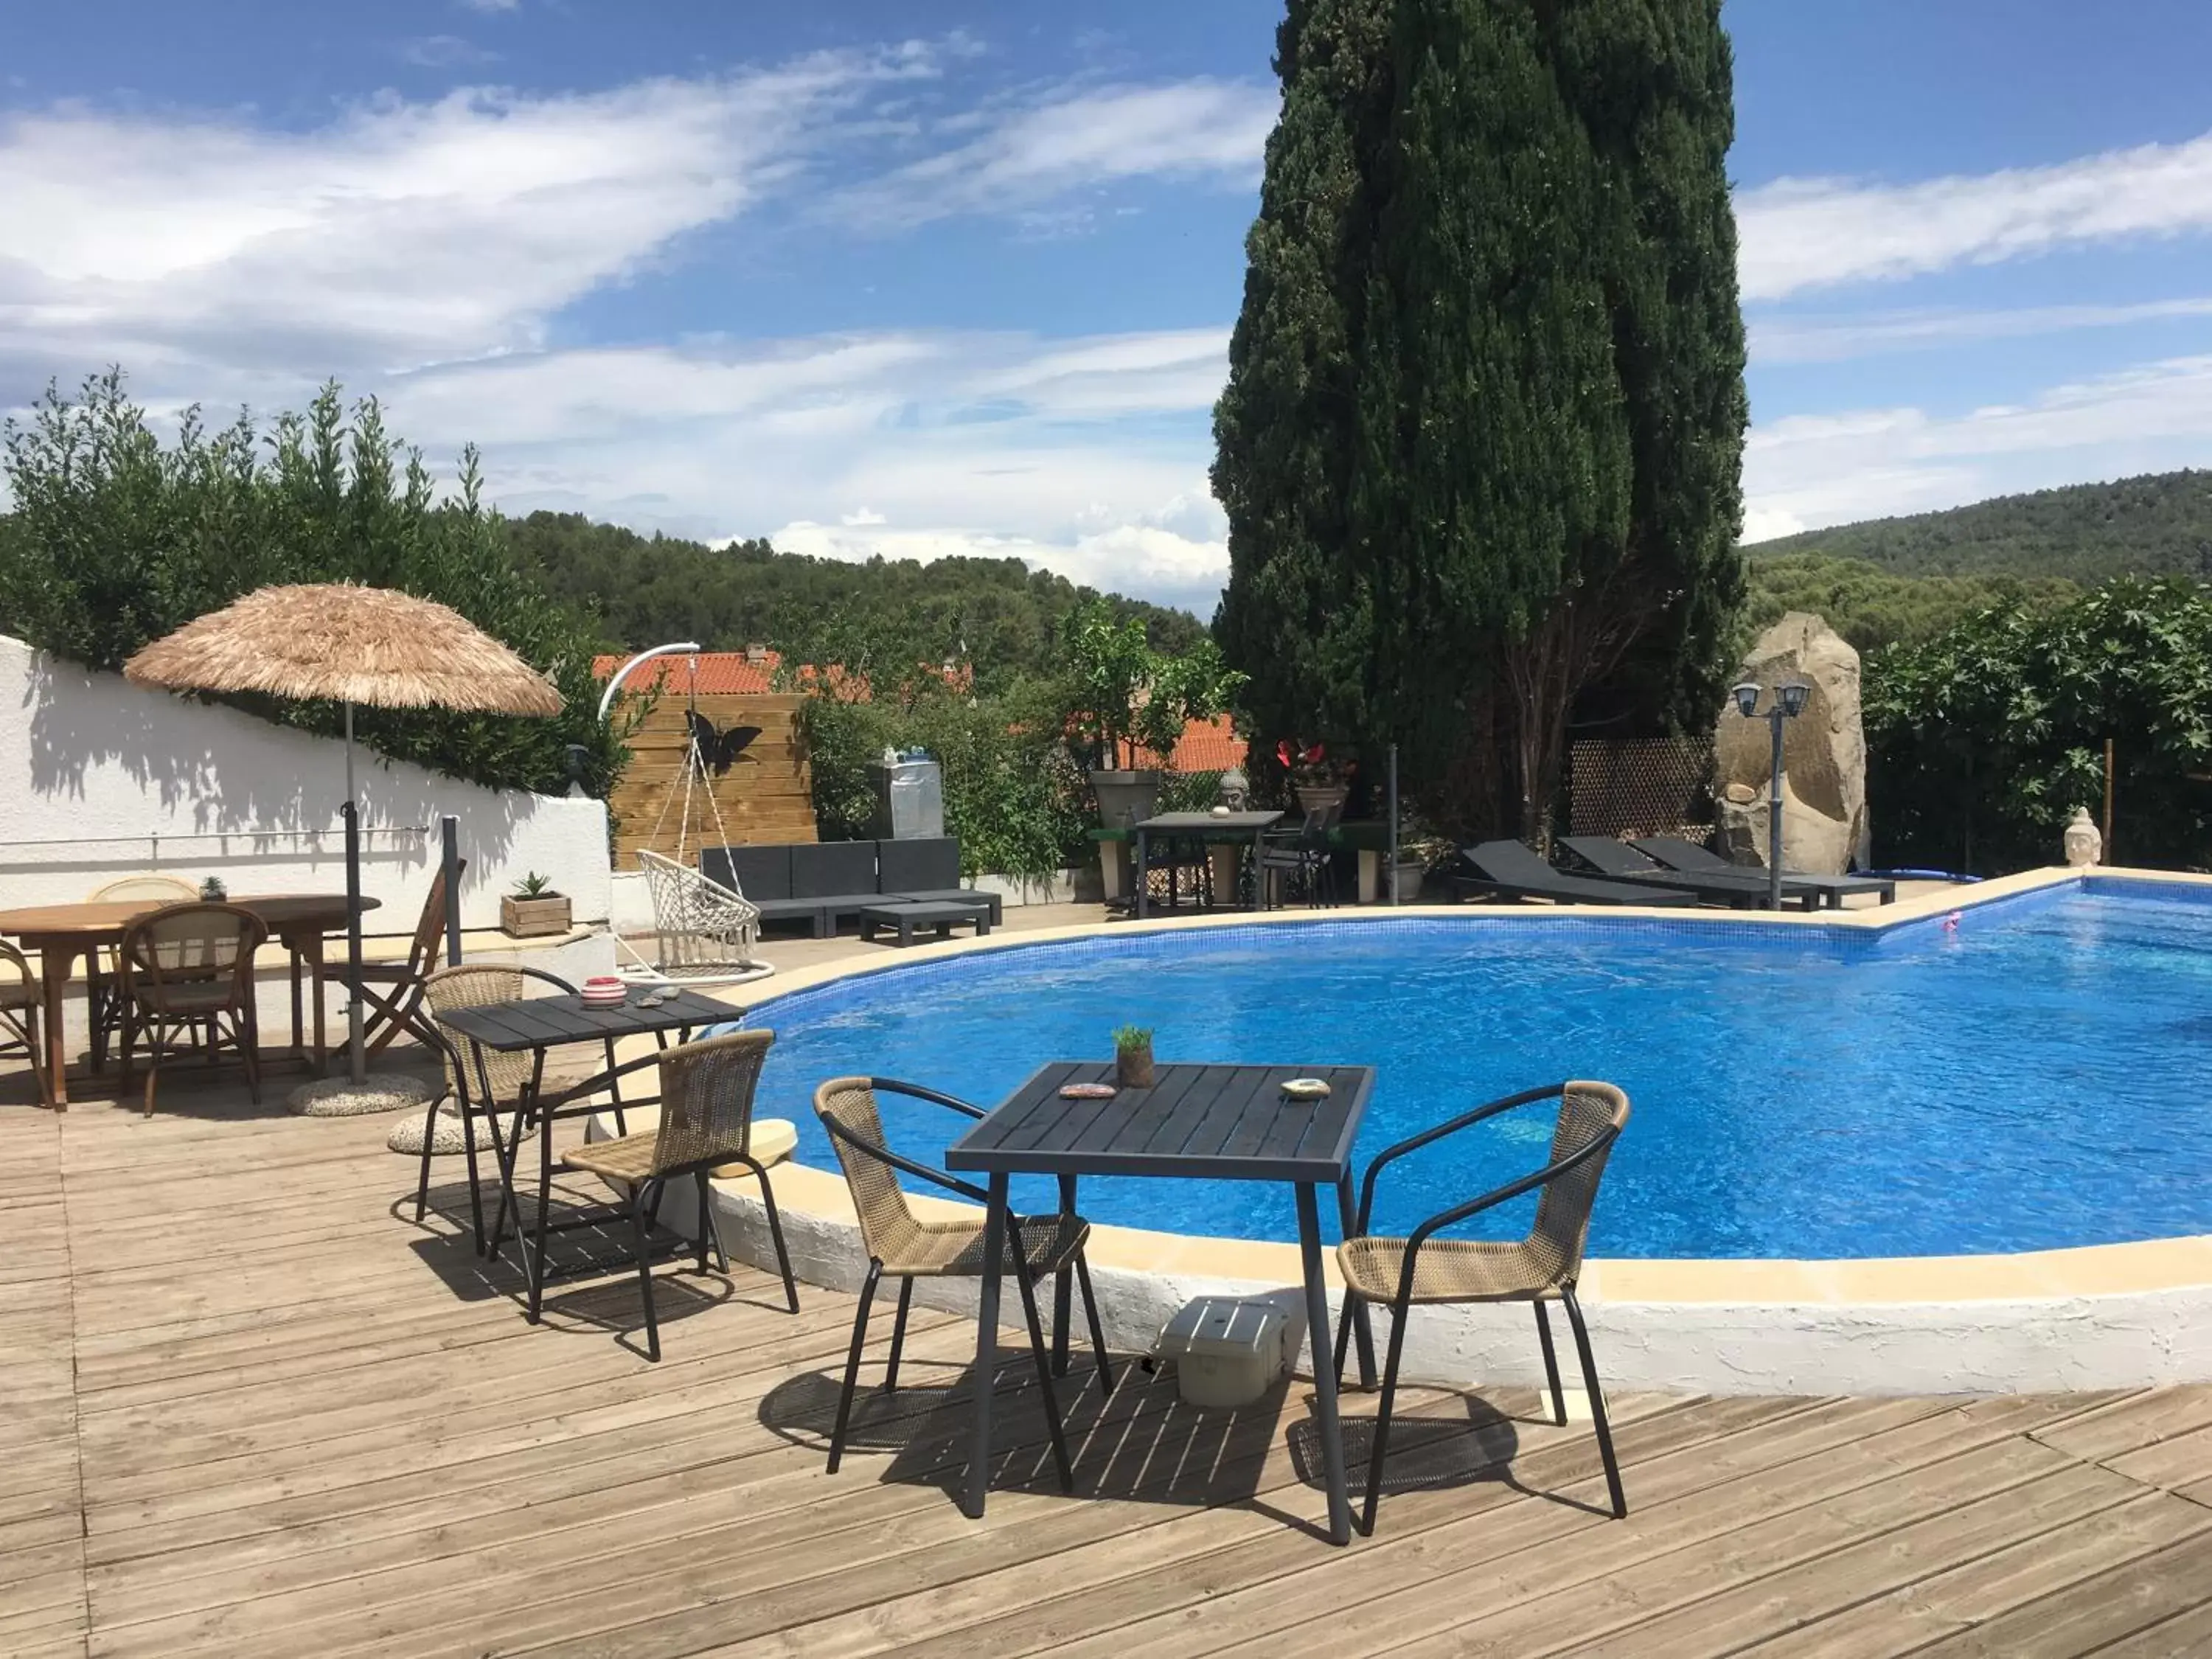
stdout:
<svg viewBox="0 0 2212 1659">
<path fill-rule="evenodd" d="M 1183 657 L 1152 650 L 1141 617 L 1115 619 L 1106 599 L 1075 606 L 1060 624 L 1068 681 L 1068 728 L 1091 750 L 1091 794 L 1099 825 L 1126 830 L 1159 803 L 1161 763 L 1183 728 L 1228 710 L 1243 675 L 1210 639 Z"/>
</svg>

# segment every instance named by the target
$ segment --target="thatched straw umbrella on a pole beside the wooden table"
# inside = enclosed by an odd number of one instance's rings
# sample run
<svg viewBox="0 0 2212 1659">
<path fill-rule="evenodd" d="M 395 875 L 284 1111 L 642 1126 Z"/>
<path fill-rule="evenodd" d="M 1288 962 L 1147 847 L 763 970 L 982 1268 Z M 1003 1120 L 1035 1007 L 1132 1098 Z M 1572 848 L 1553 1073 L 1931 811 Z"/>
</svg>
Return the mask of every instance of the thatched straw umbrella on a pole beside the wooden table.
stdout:
<svg viewBox="0 0 2212 1659">
<path fill-rule="evenodd" d="M 458 611 L 411 593 L 347 582 L 257 588 L 155 639 L 124 664 L 137 686 L 265 692 L 345 703 L 347 1051 L 361 1051 L 361 810 L 354 803 L 354 703 L 560 714 L 553 684 Z"/>
</svg>

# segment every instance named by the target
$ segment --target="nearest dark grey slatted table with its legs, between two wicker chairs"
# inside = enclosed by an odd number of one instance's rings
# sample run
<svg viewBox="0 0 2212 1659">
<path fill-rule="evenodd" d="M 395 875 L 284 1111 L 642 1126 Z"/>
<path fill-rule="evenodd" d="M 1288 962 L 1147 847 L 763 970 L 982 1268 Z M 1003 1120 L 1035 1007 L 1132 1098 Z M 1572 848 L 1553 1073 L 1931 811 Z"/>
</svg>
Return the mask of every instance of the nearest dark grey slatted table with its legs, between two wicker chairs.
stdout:
<svg viewBox="0 0 2212 1659">
<path fill-rule="evenodd" d="M 1283 1084 L 1292 1077 L 1321 1077 L 1329 1084 L 1329 1095 L 1290 1099 Z M 1055 1060 L 947 1148 L 945 1168 L 989 1177 L 991 1197 L 982 1305 L 975 1312 L 975 1427 L 962 1504 L 969 1515 L 982 1515 L 991 1486 L 991 1376 L 998 1367 L 998 1281 L 1004 1265 L 1009 1177 L 1057 1175 L 1062 1210 L 1075 1210 L 1075 1183 L 1084 1175 L 1287 1181 L 1298 1194 L 1298 1259 L 1305 1270 L 1321 1462 L 1329 1489 L 1329 1540 L 1352 1540 L 1316 1190 L 1336 1188 L 1338 1221 L 1352 1228 L 1352 1141 L 1360 1133 L 1374 1079 L 1374 1066 L 1159 1066 L 1150 1088 L 1124 1088 L 1113 1099 L 1062 1099 L 1066 1084 L 1110 1084 L 1113 1062 Z M 1066 1283 L 1060 1285 L 1055 1323 L 1062 1332 L 1055 1340 L 1064 1340 Z M 1374 1336 L 1365 1310 L 1354 1318 L 1354 1332 L 1360 1380 L 1371 1385 Z"/>
</svg>

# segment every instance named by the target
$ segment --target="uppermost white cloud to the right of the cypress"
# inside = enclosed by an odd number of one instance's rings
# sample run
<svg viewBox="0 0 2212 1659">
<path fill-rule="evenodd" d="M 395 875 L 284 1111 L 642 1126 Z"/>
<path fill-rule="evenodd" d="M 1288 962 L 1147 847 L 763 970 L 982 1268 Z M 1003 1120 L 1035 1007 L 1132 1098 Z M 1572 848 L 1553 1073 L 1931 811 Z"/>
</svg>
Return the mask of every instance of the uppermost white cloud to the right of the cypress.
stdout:
<svg viewBox="0 0 2212 1659">
<path fill-rule="evenodd" d="M 1776 179 L 1736 195 L 1745 299 L 2212 230 L 2212 133 L 1920 184 Z"/>
</svg>

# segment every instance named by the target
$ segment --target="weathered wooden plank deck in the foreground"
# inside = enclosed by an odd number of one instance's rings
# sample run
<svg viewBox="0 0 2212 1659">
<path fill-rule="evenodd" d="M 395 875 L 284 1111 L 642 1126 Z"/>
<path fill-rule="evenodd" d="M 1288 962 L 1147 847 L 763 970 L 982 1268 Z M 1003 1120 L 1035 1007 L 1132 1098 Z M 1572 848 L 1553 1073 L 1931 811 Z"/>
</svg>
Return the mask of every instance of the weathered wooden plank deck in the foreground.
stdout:
<svg viewBox="0 0 2212 1659">
<path fill-rule="evenodd" d="M 414 1225 L 383 1119 L 168 1099 L 0 1106 L 7 1655 L 2212 1652 L 2212 1389 L 1621 1396 L 1626 1522 L 1586 1427 L 1420 1394 L 1336 1551 L 1301 1385 L 1091 1389 L 1064 1498 L 1009 1345 L 975 1524 L 956 1321 L 832 1478 L 849 1298 L 684 1272 L 646 1365 L 633 1283 L 533 1329 Z"/>
</svg>

